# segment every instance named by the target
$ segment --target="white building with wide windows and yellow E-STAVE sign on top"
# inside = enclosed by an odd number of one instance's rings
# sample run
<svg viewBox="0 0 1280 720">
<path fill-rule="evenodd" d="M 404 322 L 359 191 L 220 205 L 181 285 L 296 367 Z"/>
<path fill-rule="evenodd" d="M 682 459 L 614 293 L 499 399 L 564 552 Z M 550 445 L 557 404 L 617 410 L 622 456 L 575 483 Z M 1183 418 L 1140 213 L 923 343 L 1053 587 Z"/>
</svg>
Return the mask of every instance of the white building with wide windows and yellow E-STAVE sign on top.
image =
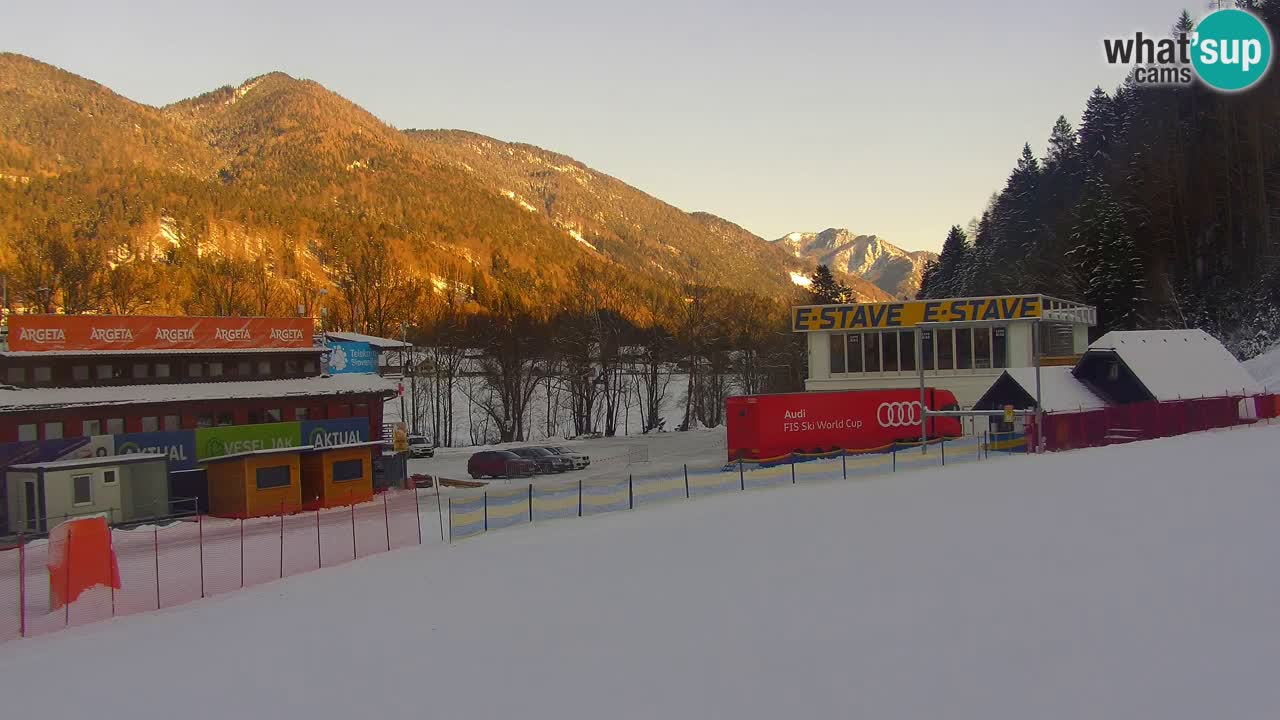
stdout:
<svg viewBox="0 0 1280 720">
<path fill-rule="evenodd" d="M 1093 307 L 1043 295 L 791 309 L 791 329 L 809 336 L 806 389 L 918 387 L 919 329 L 924 383 L 954 392 L 961 407 L 972 407 L 1006 368 L 1032 368 L 1037 357 L 1041 366 L 1074 365 L 1094 324 Z"/>
</svg>

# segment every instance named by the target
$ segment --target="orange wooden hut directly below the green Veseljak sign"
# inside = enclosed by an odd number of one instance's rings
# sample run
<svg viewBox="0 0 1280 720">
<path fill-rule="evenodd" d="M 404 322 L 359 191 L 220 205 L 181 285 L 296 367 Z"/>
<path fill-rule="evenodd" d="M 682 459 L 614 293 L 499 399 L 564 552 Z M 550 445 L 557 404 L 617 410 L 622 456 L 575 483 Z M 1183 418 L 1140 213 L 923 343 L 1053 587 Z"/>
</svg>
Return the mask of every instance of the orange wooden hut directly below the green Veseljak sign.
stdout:
<svg viewBox="0 0 1280 720">
<path fill-rule="evenodd" d="M 302 505 L 301 455 L 306 447 L 256 450 L 210 457 L 209 514 L 260 518 L 297 511 Z"/>
</svg>

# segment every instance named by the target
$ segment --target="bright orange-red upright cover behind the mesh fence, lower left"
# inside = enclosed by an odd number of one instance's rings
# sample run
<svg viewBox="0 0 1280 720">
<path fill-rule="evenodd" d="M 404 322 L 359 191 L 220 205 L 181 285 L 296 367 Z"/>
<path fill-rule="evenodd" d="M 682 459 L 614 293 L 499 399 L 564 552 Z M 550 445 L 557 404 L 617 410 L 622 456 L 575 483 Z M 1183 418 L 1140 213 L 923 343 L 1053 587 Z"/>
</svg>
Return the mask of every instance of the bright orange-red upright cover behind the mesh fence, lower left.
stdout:
<svg viewBox="0 0 1280 720">
<path fill-rule="evenodd" d="M 105 585 L 120 588 L 120 569 L 111 548 L 106 518 L 69 520 L 49 533 L 49 594 L 56 610 L 84 591 Z"/>
</svg>

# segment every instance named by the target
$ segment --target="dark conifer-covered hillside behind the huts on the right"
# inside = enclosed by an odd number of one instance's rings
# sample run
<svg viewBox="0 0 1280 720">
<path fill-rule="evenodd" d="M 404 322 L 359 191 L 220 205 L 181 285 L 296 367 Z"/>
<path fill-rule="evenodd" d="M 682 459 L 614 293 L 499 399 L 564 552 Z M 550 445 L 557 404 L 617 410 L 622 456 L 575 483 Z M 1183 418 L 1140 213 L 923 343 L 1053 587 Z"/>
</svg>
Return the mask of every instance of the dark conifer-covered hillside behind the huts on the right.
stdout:
<svg viewBox="0 0 1280 720">
<path fill-rule="evenodd" d="M 1238 4 L 1280 36 L 1280 1 Z M 1274 69 L 1230 95 L 1097 88 L 1043 158 L 1023 147 L 972 232 L 951 228 L 922 296 L 1046 292 L 1097 305 L 1100 331 L 1199 327 L 1257 354 L 1280 338 L 1277 137 Z"/>
</svg>

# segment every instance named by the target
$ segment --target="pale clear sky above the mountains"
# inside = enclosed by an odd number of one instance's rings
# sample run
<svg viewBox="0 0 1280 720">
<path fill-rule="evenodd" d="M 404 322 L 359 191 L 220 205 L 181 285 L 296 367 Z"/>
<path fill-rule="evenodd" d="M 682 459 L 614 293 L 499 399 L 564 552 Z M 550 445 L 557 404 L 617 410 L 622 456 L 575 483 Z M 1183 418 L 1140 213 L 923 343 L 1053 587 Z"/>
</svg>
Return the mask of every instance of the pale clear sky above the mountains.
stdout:
<svg viewBox="0 0 1280 720">
<path fill-rule="evenodd" d="M 937 250 L 1115 87 L 1102 38 L 1207 0 L 6 3 L 0 50 L 163 105 L 270 70 L 399 127 L 571 155 L 773 240 Z"/>
</svg>

